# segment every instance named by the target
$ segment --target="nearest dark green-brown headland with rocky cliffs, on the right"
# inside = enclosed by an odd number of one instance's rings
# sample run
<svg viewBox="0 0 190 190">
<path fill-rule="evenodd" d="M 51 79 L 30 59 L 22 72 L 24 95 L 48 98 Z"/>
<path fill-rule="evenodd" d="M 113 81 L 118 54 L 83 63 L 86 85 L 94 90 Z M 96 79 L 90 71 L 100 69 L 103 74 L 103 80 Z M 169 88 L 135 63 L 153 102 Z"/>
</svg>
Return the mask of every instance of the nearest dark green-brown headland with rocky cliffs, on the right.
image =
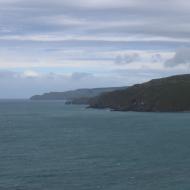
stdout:
<svg viewBox="0 0 190 190">
<path fill-rule="evenodd" d="M 178 75 L 104 93 L 90 100 L 92 108 L 120 111 L 190 111 L 190 75 Z"/>
</svg>

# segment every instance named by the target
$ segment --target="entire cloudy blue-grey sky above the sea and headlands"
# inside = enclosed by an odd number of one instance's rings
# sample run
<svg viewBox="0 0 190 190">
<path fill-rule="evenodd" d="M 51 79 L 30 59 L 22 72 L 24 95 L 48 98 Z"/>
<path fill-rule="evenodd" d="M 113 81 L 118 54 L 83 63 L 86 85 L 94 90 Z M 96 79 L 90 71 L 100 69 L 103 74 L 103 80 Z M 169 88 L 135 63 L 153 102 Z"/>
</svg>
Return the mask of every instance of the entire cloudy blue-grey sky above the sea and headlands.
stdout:
<svg viewBox="0 0 190 190">
<path fill-rule="evenodd" d="M 187 0 L 0 0 L 0 98 L 190 71 Z"/>
</svg>

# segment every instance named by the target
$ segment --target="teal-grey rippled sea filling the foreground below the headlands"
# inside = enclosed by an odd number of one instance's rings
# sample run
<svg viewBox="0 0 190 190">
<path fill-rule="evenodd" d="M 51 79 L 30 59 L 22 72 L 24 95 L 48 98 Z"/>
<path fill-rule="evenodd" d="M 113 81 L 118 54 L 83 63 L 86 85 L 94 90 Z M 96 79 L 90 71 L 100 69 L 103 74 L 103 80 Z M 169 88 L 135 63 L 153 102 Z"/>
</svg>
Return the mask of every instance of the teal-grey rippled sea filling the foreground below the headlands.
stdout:
<svg viewBox="0 0 190 190">
<path fill-rule="evenodd" d="M 190 113 L 0 101 L 0 190 L 189 190 Z"/>
</svg>

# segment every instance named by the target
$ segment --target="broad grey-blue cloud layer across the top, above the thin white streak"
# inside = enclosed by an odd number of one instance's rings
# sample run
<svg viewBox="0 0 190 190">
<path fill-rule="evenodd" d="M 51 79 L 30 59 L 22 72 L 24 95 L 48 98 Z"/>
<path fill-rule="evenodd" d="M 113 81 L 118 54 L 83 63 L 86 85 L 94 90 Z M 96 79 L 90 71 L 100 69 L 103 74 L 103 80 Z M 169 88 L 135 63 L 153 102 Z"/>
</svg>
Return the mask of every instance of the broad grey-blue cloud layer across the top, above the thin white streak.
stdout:
<svg viewBox="0 0 190 190">
<path fill-rule="evenodd" d="M 190 6 L 187 1 L 184 2 L 184 0 L 158 1 L 154 2 L 153 5 L 150 0 L 106 0 L 97 1 L 96 3 L 90 3 L 87 0 L 77 2 L 74 0 L 9 1 L 7 4 L 8 8 L 1 8 L 0 25 L 2 24 L 3 27 L 7 27 L 8 25 L 9 30 L 13 33 L 21 34 L 60 32 L 62 35 L 67 33 L 115 35 L 122 33 L 124 36 L 128 34 L 142 34 L 189 38 L 190 26 L 188 21 Z M 180 6 L 178 6 L 179 4 Z M 110 7 L 110 5 L 114 6 Z M 54 19 L 55 22 L 52 22 L 53 18 L 59 18 L 60 16 L 66 16 L 68 20 L 82 19 L 87 24 L 85 26 L 83 24 L 78 25 L 75 22 L 64 22 L 64 20 L 62 23 L 59 23 L 56 19 Z M 107 25 L 107 23 L 112 23 L 113 21 L 117 23 L 121 20 L 126 21 L 126 26 L 110 27 Z M 134 23 L 138 21 L 138 24 L 136 26 L 128 26 L 128 21 Z M 105 24 L 99 26 L 99 22 L 104 22 Z M 170 24 L 168 25 L 168 23 Z"/>
</svg>

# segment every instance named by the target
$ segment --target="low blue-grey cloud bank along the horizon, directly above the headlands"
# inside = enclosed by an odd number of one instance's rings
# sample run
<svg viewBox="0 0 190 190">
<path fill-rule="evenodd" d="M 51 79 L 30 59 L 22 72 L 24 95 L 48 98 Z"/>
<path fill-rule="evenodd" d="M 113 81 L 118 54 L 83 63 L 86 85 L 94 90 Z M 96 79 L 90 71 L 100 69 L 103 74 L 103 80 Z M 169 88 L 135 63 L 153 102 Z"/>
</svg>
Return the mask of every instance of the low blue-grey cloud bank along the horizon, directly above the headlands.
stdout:
<svg viewBox="0 0 190 190">
<path fill-rule="evenodd" d="M 15 72 L 17 77 L 14 78 L 14 74 L 11 71 L 1 71 L 0 75 L 4 78 L 0 78 L 0 98 L 26 98 L 34 94 L 42 94 L 49 91 L 66 91 L 78 88 L 128 86 L 152 78 L 182 72 L 184 73 L 184 71 L 180 71 L 179 69 L 175 71 L 171 70 L 170 72 L 157 69 L 121 69 L 113 70 L 106 75 L 92 75 L 78 72 L 67 76 L 58 73 L 47 73 L 45 77 L 36 77 L 35 79 L 24 78 L 23 80 L 20 72 Z"/>
</svg>

